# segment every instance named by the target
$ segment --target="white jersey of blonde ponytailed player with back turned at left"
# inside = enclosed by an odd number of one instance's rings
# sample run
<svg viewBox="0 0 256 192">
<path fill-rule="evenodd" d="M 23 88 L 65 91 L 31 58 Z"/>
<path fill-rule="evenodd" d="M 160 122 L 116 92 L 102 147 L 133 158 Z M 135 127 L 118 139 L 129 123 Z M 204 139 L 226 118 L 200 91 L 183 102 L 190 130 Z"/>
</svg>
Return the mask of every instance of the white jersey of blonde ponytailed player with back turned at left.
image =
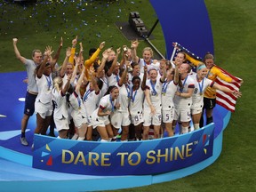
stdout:
<svg viewBox="0 0 256 192">
<path fill-rule="evenodd" d="M 61 119 L 63 117 L 68 118 L 68 104 L 66 100 L 66 95 L 60 90 L 58 92 L 55 88 L 52 90 L 52 100 L 55 104 L 54 108 L 54 118 Z"/>
</svg>

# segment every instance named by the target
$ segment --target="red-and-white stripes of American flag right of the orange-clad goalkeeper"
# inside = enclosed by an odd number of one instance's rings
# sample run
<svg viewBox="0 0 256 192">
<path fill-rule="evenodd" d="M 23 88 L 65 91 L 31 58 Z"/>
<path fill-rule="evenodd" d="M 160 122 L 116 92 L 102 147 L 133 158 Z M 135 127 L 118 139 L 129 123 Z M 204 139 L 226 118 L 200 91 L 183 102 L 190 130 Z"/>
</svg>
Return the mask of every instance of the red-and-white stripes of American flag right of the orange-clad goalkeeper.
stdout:
<svg viewBox="0 0 256 192">
<path fill-rule="evenodd" d="M 223 80 L 221 80 L 219 77 L 217 77 L 217 79 L 215 80 L 215 82 L 217 84 L 220 84 L 222 86 L 228 87 L 230 90 L 236 90 L 239 91 L 240 86 L 242 84 L 242 79 L 236 76 L 232 76 L 231 74 L 229 74 L 226 70 L 224 70 L 223 68 L 220 68 L 218 66 L 215 66 L 216 68 L 219 68 L 221 70 L 221 72 L 226 75 L 231 77 L 232 79 L 234 79 L 236 81 L 236 83 L 228 83 L 225 82 Z M 228 93 L 228 92 L 221 92 L 220 90 L 216 91 L 216 103 L 219 104 L 220 106 L 222 106 L 223 108 L 227 108 L 229 111 L 231 112 L 235 112 L 235 108 L 236 108 L 236 97 L 232 94 L 232 93 Z"/>
</svg>

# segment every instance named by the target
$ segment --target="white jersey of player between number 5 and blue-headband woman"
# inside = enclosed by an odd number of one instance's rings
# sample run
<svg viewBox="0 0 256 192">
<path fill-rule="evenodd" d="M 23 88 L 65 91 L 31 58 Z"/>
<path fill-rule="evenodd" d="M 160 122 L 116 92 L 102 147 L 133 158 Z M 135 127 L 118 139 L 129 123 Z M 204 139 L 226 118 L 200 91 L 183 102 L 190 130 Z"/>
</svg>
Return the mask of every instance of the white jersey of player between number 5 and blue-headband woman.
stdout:
<svg viewBox="0 0 256 192">
<path fill-rule="evenodd" d="M 181 89 L 178 85 L 178 92 L 188 92 L 188 88 L 195 88 L 195 81 L 190 76 L 187 76 L 185 79 L 181 80 L 181 83 L 183 84 L 183 89 Z M 175 95 L 173 101 L 175 108 L 191 108 L 192 105 L 192 97 L 184 98 Z"/>
</svg>

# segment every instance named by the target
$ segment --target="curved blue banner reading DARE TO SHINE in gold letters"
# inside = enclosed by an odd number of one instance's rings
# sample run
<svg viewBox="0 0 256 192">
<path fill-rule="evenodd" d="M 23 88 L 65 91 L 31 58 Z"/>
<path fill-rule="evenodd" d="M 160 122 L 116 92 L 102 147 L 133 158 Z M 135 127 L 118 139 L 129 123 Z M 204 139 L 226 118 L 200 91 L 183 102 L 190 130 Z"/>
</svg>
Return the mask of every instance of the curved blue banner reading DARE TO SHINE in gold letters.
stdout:
<svg viewBox="0 0 256 192">
<path fill-rule="evenodd" d="M 214 124 L 158 140 L 98 142 L 35 135 L 33 167 L 85 175 L 153 175 L 212 156 Z"/>
</svg>

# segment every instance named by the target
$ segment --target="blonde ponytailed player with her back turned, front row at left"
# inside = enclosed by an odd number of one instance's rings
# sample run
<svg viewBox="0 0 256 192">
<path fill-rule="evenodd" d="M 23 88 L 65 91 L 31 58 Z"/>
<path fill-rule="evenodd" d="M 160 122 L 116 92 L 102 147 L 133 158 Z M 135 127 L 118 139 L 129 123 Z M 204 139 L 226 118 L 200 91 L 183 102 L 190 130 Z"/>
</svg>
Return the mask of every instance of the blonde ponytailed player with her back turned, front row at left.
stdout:
<svg viewBox="0 0 256 192">
<path fill-rule="evenodd" d="M 66 92 L 70 86 L 70 77 L 63 87 L 63 80 L 57 76 L 53 80 L 54 88 L 52 89 L 52 100 L 54 102 L 53 119 L 56 129 L 59 132 L 58 138 L 66 139 L 68 134 L 68 103 L 66 100 Z M 62 88 L 63 87 L 63 88 Z"/>
</svg>

